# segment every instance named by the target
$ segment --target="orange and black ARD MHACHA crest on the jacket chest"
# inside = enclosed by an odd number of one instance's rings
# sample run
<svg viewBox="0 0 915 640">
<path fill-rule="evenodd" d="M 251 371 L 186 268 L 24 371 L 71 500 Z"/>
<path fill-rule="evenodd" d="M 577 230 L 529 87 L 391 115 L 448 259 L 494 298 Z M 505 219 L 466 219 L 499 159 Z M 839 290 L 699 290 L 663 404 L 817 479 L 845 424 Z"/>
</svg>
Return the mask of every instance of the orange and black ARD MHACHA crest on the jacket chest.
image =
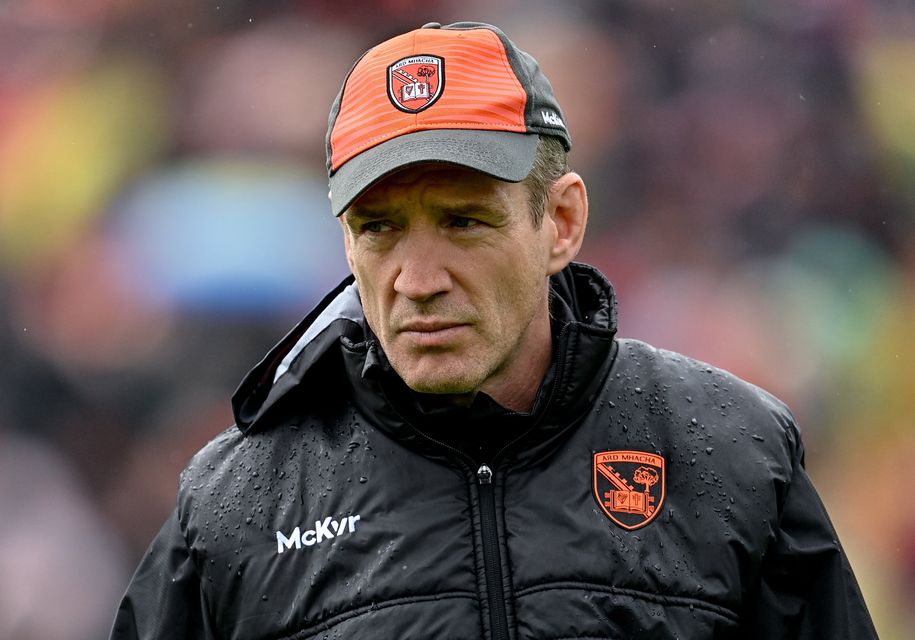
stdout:
<svg viewBox="0 0 915 640">
<path fill-rule="evenodd" d="M 604 514 L 623 529 L 644 527 L 664 504 L 664 458 L 644 451 L 594 454 L 594 498 Z"/>
</svg>

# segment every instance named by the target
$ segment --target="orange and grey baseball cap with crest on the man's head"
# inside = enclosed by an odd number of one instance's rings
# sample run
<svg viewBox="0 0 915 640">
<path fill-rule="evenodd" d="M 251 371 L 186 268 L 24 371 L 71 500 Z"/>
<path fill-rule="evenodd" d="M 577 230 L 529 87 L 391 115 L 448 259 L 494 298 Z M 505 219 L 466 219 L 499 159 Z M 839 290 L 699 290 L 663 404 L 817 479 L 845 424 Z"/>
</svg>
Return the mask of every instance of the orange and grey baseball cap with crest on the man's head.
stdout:
<svg viewBox="0 0 915 640">
<path fill-rule="evenodd" d="M 571 149 L 533 57 L 492 25 L 427 24 L 369 49 L 347 75 L 327 130 L 331 207 L 339 216 L 378 180 L 423 162 L 520 182 L 541 134 Z"/>
</svg>

